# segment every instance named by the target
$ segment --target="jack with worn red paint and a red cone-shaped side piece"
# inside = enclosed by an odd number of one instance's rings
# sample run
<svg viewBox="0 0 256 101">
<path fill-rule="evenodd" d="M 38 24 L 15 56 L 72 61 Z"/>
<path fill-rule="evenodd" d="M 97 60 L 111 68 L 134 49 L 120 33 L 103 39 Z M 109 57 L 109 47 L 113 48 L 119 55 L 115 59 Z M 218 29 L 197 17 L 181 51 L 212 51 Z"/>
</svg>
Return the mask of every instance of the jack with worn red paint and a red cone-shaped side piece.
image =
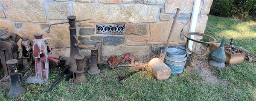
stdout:
<svg viewBox="0 0 256 101">
<path fill-rule="evenodd" d="M 35 58 L 35 75 L 26 79 L 27 83 L 44 83 L 49 80 L 49 61 L 58 63 L 60 56 L 52 55 L 47 43 L 50 37 L 43 38 L 43 34 L 34 34 L 33 56 Z"/>
</svg>

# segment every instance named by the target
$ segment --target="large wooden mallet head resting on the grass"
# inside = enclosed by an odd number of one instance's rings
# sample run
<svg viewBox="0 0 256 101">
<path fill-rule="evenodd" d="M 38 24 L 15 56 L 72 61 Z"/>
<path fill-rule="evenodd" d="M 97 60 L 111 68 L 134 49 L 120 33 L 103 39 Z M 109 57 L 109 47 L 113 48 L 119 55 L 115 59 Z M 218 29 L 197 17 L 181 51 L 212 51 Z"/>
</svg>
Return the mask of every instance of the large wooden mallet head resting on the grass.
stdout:
<svg viewBox="0 0 256 101">
<path fill-rule="evenodd" d="M 163 63 L 160 58 L 153 58 L 150 60 L 148 63 L 148 69 L 158 80 L 168 79 L 171 75 L 171 69 Z"/>
</svg>

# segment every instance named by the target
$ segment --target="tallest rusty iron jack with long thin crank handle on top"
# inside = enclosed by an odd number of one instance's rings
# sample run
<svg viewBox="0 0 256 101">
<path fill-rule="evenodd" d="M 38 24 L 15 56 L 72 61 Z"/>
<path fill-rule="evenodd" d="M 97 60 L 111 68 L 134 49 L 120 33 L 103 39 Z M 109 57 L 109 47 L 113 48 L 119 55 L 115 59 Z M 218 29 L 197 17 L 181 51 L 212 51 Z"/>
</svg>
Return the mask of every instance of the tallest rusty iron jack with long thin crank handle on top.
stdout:
<svg viewBox="0 0 256 101">
<path fill-rule="evenodd" d="M 74 56 L 79 55 L 79 50 L 78 50 L 78 38 L 76 36 L 76 22 L 81 22 L 81 21 L 87 21 L 90 19 L 85 19 L 85 20 L 78 20 L 76 21 L 76 16 L 67 16 L 68 22 L 62 22 L 62 23 L 55 23 L 49 25 L 49 29 L 47 30 L 47 33 L 50 32 L 50 27 L 52 25 L 58 25 L 58 24 L 65 24 L 69 23 L 69 29 L 70 29 L 70 58 L 67 61 L 67 65 L 70 66 L 70 71 L 76 71 L 76 61 Z M 85 68 L 86 64 L 83 63 L 83 68 Z"/>
</svg>

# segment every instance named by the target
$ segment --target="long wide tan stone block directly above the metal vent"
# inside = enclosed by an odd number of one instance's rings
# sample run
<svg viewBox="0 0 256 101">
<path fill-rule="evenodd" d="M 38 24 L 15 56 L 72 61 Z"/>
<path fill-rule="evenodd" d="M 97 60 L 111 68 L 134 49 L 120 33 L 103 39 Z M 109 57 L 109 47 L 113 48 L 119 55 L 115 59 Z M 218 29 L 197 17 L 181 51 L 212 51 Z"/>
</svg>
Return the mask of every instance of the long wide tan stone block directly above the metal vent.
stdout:
<svg viewBox="0 0 256 101">
<path fill-rule="evenodd" d="M 143 4 L 106 5 L 73 3 L 73 8 L 73 14 L 76 15 L 77 20 L 91 19 L 84 22 L 97 23 L 155 22 L 159 10 L 159 7 Z M 108 14 L 108 16 L 106 16 L 106 14 Z"/>
</svg>

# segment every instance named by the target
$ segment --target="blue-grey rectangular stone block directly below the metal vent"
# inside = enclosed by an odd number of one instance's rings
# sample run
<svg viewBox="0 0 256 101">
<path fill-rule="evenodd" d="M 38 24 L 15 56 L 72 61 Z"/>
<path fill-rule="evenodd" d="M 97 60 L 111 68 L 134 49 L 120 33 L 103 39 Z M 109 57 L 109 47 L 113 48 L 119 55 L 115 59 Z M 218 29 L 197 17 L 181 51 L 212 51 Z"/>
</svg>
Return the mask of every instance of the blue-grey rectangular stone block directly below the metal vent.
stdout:
<svg viewBox="0 0 256 101">
<path fill-rule="evenodd" d="M 104 36 L 103 45 L 119 45 L 125 42 L 123 36 Z"/>
</svg>

